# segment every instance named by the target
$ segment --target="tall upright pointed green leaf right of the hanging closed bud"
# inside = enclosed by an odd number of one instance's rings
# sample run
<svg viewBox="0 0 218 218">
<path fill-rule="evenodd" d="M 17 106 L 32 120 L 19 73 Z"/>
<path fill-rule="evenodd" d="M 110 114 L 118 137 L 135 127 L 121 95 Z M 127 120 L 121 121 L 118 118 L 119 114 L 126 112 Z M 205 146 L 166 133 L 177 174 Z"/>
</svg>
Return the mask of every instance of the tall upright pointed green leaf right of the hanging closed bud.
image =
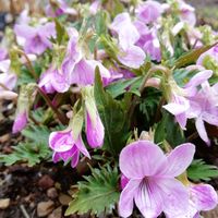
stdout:
<svg viewBox="0 0 218 218">
<path fill-rule="evenodd" d="M 129 137 L 128 100 L 118 101 L 104 90 L 99 70 L 95 77 L 94 95 L 105 126 L 104 148 L 118 157 Z"/>
</svg>

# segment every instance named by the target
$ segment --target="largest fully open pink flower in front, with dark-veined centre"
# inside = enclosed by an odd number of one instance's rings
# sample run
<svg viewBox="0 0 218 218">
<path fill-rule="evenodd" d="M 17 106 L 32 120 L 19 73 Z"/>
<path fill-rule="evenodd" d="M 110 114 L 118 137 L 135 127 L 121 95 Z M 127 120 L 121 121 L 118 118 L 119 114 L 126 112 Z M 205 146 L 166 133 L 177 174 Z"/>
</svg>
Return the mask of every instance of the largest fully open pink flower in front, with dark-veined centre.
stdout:
<svg viewBox="0 0 218 218">
<path fill-rule="evenodd" d="M 146 218 L 158 217 L 161 211 L 170 215 L 189 208 L 185 186 L 175 179 L 185 171 L 195 153 L 186 143 L 175 147 L 168 156 L 149 141 L 134 142 L 120 154 L 121 172 L 130 181 L 119 201 L 119 214 L 129 217 L 133 205 Z"/>
</svg>

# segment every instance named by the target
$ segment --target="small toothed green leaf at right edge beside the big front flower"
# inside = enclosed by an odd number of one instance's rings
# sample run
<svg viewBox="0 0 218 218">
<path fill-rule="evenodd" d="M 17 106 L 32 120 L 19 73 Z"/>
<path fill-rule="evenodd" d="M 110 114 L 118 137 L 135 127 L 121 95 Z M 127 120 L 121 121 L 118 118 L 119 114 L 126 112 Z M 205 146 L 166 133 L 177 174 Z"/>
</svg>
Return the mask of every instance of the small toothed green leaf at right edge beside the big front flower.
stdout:
<svg viewBox="0 0 218 218">
<path fill-rule="evenodd" d="M 213 165 L 207 165 L 202 159 L 196 159 L 189 167 L 187 177 L 194 182 L 199 182 L 201 180 L 209 181 L 213 178 L 218 178 L 218 168 Z"/>
</svg>

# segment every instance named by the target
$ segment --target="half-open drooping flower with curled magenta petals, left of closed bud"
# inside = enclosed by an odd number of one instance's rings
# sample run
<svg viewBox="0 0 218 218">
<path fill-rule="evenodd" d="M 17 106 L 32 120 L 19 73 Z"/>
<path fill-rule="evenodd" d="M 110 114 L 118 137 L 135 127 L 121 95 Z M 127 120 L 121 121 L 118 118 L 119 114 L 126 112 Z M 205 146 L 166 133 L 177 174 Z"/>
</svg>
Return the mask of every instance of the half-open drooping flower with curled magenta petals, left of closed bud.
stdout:
<svg viewBox="0 0 218 218">
<path fill-rule="evenodd" d="M 82 136 L 78 135 L 74 141 L 71 130 L 52 132 L 49 136 L 49 147 L 53 150 L 53 162 L 58 162 L 60 159 L 66 162 L 71 159 L 72 168 L 77 166 L 81 153 L 90 158 Z"/>
</svg>

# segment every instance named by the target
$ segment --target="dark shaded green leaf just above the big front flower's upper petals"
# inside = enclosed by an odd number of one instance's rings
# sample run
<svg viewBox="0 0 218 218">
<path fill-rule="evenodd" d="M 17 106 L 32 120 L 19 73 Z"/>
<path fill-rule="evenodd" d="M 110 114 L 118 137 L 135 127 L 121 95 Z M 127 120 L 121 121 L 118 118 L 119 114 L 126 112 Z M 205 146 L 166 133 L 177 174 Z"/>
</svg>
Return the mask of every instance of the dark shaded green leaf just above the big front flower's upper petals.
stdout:
<svg viewBox="0 0 218 218">
<path fill-rule="evenodd" d="M 155 143 L 162 143 L 165 140 L 173 147 L 185 142 L 183 131 L 174 121 L 174 117 L 166 111 L 155 129 Z"/>
</svg>

